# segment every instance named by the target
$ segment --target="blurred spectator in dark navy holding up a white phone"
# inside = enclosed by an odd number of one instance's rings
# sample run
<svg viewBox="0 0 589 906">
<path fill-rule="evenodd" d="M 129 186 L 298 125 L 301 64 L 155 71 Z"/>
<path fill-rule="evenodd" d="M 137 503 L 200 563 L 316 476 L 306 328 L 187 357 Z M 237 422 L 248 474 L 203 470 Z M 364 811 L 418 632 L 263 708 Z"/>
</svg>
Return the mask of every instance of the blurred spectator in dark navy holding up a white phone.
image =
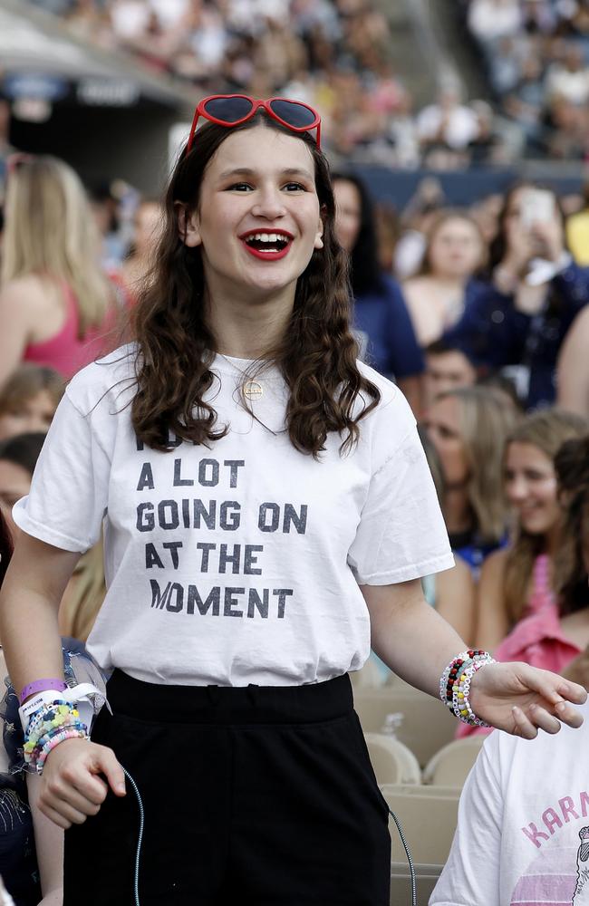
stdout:
<svg viewBox="0 0 589 906">
<path fill-rule="evenodd" d="M 478 365 L 506 368 L 527 407 L 555 399 L 555 365 L 576 313 L 589 302 L 589 269 L 565 249 L 554 193 L 512 188 L 490 249 L 486 288 L 447 332 Z"/>
</svg>

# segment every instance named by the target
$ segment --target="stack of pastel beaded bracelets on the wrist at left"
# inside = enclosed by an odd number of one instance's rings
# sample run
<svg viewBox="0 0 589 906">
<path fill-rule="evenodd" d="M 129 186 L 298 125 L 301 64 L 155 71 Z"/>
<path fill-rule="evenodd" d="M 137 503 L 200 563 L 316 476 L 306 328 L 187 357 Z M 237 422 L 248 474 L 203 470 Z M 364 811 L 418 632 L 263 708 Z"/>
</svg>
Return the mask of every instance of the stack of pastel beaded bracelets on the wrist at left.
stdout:
<svg viewBox="0 0 589 906">
<path fill-rule="evenodd" d="M 70 701 L 53 699 L 34 712 L 24 736 L 24 762 L 38 774 L 45 759 L 64 739 L 89 739 L 88 728 L 80 712 Z"/>
</svg>

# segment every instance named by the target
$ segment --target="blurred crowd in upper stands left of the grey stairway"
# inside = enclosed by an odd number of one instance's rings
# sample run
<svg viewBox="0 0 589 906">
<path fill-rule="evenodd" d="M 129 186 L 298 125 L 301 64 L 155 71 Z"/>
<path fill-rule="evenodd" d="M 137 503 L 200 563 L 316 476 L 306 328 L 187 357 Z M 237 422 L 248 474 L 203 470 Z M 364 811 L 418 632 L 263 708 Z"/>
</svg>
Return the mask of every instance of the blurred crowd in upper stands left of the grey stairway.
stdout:
<svg viewBox="0 0 589 906">
<path fill-rule="evenodd" d="M 391 25 L 375 0 L 34 2 L 78 37 L 131 53 L 203 94 L 310 103 L 323 111 L 323 141 L 337 159 L 462 169 L 509 164 L 522 149 L 522 127 L 506 125 L 487 100 L 466 99 L 454 80 L 418 103 L 395 67 Z"/>
</svg>

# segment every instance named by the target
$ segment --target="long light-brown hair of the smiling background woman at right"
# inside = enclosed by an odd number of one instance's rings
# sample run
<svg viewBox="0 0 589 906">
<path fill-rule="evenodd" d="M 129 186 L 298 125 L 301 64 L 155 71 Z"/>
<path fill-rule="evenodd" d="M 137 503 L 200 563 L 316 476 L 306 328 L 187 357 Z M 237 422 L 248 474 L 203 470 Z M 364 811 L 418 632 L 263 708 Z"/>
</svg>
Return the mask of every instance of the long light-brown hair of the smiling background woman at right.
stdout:
<svg viewBox="0 0 589 906">
<path fill-rule="evenodd" d="M 541 450 L 547 458 L 554 460 L 565 441 L 580 438 L 586 433 L 587 422 L 580 415 L 559 409 L 541 410 L 526 416 L 511 431 L 505 450 L 507 453 L 511 443 L 530 444 Z M 526 610 L 534 562 L 545 546 L 544 535 L 532 535 L 521 525 L 515 526 L 513 543 L 507 553 L 504 580 L 506 608 L 512 623 L 520 620 Z"/>
</svg>

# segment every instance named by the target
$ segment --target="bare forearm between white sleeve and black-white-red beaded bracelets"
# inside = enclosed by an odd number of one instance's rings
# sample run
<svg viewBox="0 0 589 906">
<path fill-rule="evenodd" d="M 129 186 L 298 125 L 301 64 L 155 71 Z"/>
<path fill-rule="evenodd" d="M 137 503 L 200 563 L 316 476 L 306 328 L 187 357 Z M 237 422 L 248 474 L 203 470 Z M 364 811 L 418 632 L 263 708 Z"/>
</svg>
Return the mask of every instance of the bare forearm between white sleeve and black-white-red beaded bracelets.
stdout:
<svg viewBox="0 0 589 906">
<path fill-rule="evenodd" d="M 393 606 L 390 586 L 370 589 L 372 648 L 411 686 L 438 696 L 442 671 L 468 645 L 424 600 L 420 583 L 395 587 Z"/>
</svg>

